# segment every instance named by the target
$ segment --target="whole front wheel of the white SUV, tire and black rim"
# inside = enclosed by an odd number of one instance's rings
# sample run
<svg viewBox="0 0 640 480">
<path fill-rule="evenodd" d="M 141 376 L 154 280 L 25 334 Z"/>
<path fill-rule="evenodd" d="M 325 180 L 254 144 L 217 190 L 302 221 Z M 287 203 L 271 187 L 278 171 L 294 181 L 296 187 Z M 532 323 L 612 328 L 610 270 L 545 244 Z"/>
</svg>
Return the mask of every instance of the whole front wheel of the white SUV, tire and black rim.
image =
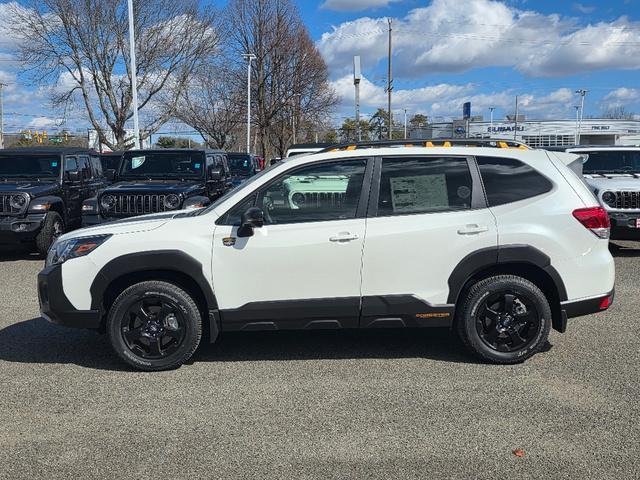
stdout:
<svg viewBox="0 0 640 480">
<path fill-rule="evenodd" d="M 189 360 L 202 337 L 202 315 L 182 288 L 168 282 L 137 283 L 122 292 L 109 310 L 111 346 L 130 366 L 169 370 Z"/>
</svg>

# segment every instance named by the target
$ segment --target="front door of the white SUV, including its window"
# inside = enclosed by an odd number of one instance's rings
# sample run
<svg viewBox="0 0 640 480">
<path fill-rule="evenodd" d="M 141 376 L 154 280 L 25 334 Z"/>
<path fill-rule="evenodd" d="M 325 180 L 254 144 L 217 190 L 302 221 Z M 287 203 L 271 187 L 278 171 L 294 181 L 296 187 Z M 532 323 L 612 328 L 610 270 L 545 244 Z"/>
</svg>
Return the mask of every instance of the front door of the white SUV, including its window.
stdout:
<svg viewBox="0 0 640 480">
<path fill-rule="evenodd" d="M 222 217 L 213 282 L 223 329 L 357 327 L 368 163 L 296 168 Z M 251 206 L 263 210 L 265 225 L 238 237 Z"/>
</svg>

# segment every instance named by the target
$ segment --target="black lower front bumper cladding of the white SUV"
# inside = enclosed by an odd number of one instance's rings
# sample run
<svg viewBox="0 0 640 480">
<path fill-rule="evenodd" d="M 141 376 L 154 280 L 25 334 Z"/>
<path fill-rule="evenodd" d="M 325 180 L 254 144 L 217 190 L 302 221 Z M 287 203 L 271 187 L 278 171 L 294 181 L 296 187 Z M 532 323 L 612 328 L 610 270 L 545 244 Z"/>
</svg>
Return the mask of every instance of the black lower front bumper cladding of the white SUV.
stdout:
<svg viewBox="0 0 640 480">
<path fill-rule="evenodd" d="M 77 310 L 62 289 L 62 265 L 45 267 L 38 274 L 38 300 L 42 317 L 57 325 L 99 329 L 102 314 L 98 310 Z"/>
</svg>

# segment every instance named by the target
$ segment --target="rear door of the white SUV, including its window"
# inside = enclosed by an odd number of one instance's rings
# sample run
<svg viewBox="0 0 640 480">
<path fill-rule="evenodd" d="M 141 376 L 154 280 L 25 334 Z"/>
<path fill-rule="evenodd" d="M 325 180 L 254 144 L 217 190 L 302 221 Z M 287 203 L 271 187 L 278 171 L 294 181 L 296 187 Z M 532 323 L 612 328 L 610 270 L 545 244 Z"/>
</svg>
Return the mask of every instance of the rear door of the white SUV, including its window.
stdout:
<svg viewBox="0 0 640 480">
<path fill-rule="evenodd" d="M 498 244 L 474 161 L 385 157 L 377 160 L 373 182 L 360 325 L 450 324 L 454 268 L 466 255 Z"/>
</svg>

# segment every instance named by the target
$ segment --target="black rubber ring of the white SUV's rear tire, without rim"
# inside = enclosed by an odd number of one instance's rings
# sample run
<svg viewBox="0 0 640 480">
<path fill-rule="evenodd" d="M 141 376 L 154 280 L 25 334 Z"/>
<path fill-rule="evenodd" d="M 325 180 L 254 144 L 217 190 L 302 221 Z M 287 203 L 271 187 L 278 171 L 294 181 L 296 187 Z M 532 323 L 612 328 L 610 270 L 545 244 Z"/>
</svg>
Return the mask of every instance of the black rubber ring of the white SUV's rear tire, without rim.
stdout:
<svg viewBox="0 0 640 480">
<path fill-rule="evenodd" d="M 546 342 L 551 327 L 551 309 L 542 292 L 533 284 L 527 285 L 529 283 L 530 282 L 524 280 L 515 282 L 505 279 L 495 279 L 491 284 L 479 284 L 480 288 L 471 290 L 463 315 L 463 328 L 471 348 L 480 353 L 482 357 L 500 363 L 516 363 L 537 353 Z M 516 296 L 526 296 L 527 299 L 534 303 L 539 313 L 540 327 L 535 339 L 525 348 L 515 352 L 499 352 L 494 350 L 480 338 L 476 329 L 478 309 L 484 304 L 487 297 L 502 290 L 510 290 Z"/>
</svg>

